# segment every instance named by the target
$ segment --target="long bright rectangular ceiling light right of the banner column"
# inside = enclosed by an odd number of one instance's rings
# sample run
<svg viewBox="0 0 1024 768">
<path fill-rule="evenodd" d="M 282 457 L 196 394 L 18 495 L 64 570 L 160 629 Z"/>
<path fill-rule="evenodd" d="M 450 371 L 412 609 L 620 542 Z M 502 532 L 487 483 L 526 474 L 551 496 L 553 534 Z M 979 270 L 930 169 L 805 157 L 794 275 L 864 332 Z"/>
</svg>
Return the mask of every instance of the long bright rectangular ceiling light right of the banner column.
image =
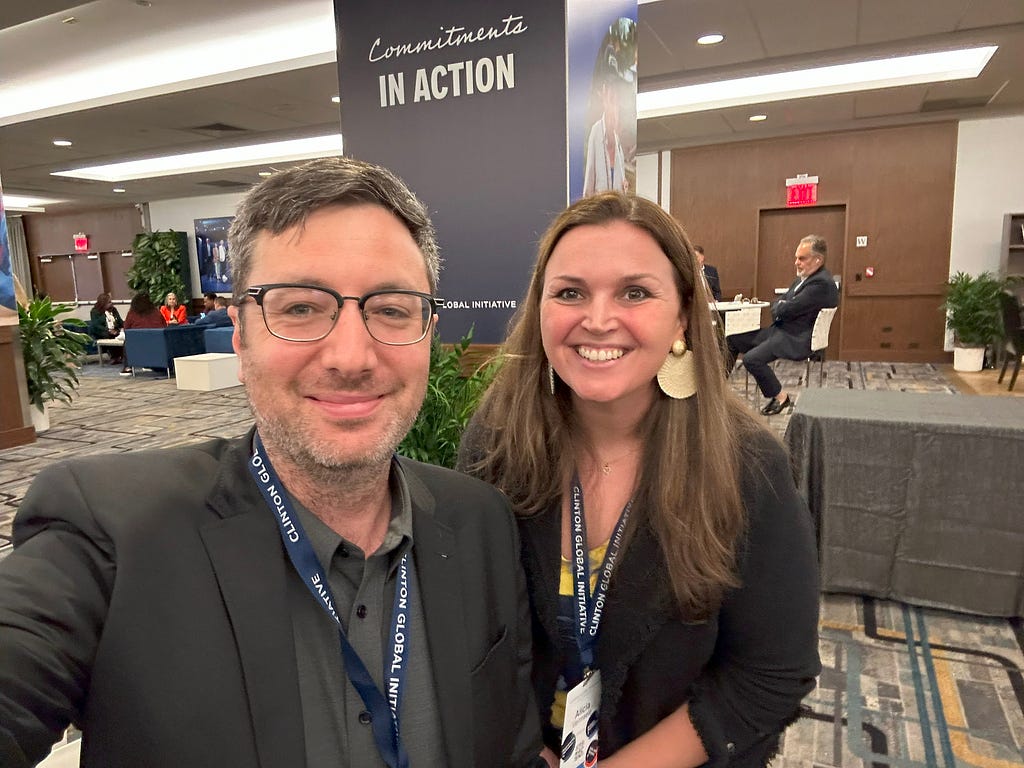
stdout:
<svg viewBox="0 0 1024 768">
<path fill-rule="evenodd" d="M 637 94 L 637 118 L 978 77 L 998 46 L 916 53 Z"/>
</svg>

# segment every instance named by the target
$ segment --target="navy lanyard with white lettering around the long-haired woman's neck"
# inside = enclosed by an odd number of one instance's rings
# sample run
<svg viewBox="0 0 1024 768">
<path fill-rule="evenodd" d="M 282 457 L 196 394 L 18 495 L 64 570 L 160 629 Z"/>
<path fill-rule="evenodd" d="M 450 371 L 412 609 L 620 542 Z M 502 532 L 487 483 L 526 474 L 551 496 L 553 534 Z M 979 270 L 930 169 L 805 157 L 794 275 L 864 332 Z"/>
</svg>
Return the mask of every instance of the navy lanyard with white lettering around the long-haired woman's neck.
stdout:
<svg viewBox="0 0 1024 768">
<path fill-rule="evenodd" d="M 577 608 L 577 647 L 580 648 L 580 662 L 584 670 L 594 667 L 594 648 L 597 645 L 597 632 L 601 626 L 601 614 L 608 598 L 608 585 L 611 584 L 611 571 L 615 568 L 615 560 L 623 547 L 623 536 L 626 523 L 630 519 L 633 500 L 626 503 L 626 508 L 618 516 L 615 529 L 604 550 L 604 560 L 597 572 L 597 585 L 594 595 L 590 594 L 590 555 L 587 552 L 587 517 L 584 515 L 583 486 L 580 476 L 572 475 L 572 599 Z"/>
</svg>

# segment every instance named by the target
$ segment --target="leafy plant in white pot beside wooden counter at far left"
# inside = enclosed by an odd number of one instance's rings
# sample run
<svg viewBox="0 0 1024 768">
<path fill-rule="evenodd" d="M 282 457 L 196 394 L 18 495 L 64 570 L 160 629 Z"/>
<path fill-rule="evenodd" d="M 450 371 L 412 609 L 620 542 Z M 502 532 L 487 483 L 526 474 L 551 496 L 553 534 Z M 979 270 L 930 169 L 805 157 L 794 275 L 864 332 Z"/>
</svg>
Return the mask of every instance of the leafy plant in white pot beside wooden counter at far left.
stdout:
<svg viewBox="0 0 1024 768">
<path fill-rule="evenodd" d="M 71 402 L 78 387 L 77 365 L 89 337 L 65 328 L 58 319 L 74 309 L 72 304 L 54 304 L 48 297 L 36 297 L 17 308 L 25 378 L 37 432 L 49 429 L 47 404 L 53 400 Z"/>
</svg>

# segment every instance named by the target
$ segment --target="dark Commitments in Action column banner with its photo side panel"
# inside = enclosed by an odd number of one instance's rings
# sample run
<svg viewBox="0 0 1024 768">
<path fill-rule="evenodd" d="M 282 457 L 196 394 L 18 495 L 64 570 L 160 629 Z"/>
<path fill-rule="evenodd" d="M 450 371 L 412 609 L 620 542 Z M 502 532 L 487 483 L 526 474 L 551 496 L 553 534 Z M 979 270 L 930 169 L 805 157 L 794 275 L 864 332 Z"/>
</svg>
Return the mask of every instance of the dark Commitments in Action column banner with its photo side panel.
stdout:
<svg viewBox="0 0 1024 768">
<path fill-rule="evenodd" d="M 591 124 L 580 129 L 586 136 L 569 137 L 563 2 L 335 0 L 344 152 L 390 168 L 429 207 L 443 259 L 444 341 L 470 328 L 475 343 L 504 340 L 538 241 L 568 203 L 569 144 L 582 158 L 590 128 L 618 93 L 609 96 L 602 77 L 594 101 L 595 61 L 607 62 L 604 48 L 618 45 L 605 40 L 615 19 L 630 16 L 617 8 L 632 6 L 635 19 L 636 5 L 595 4 L 610 15 L 571 16 L 578 29 L 599 28 L 589 33 L 593 50 L 580 53 L 589 58 L 580 119 Z M 632 30 L 634 53 L 610 51 L 623 73 L 635 56 L 635 22 Z M 633 72 L 635 83 L 635 62 Z M 624 166 L 635 135 L 622 144 Z M 580 189 L 584 170 L 581 160 Z M 628 169 L 614 171 L 629 178 Z"/>
</svg>

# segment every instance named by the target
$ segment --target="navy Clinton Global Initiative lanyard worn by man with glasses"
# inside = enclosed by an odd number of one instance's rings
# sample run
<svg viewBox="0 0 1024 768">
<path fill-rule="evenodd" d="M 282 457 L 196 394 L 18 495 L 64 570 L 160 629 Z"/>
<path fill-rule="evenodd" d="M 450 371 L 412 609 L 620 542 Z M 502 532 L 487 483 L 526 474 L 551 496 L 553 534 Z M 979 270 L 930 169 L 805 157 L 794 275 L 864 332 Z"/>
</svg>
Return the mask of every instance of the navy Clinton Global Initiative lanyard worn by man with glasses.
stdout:
<svg viewBox="0 0 1024 768">
<path fill-rule="evenodd" d="M 362 703 L 370 712 L 371 727 L 374 740 L 384 762 L 389 768 L 409 768 L 409 755 L 401 743 L 398 732 L 398 713 L 401 711 L 401 694 L 406 683 L 406 671 L 409 660 L 409 618 L 413 601 L 413 584 L 410 579 L 412 556 L 410 552 L 402 555 L 398 563 L 398 584 L 395 588 L 394 608 L 391 612 L 391 647 L 384 658 L 384 680 L 387 687 L 387 699 L 377 688 L 373 676 L 362 664 L 359 654 L 345 637 L 345 630 L 334 607 L 334 595 L 327 581 L 327 574 L 321 567 L 312 545 L 302 528 L 302 522 L 295 515 L 291 501 L 285 493 L 284 485 L 278 479 L 270 460 L 263 450 L 263 442 L 256 434 L 253 440 L 253 455 L 249 462 L 249 471 L 259 486 L 267 506 L 273 510 L 278 525 L 281 528 L 281 539 L 288 550 L 292 565 L 302 579 L 302 583 L 321 607 L 327 611 L 338 627 L 338 637 L 341 640 L 341 658 L 345 673 L 358 692 Z"/>
</svg>

